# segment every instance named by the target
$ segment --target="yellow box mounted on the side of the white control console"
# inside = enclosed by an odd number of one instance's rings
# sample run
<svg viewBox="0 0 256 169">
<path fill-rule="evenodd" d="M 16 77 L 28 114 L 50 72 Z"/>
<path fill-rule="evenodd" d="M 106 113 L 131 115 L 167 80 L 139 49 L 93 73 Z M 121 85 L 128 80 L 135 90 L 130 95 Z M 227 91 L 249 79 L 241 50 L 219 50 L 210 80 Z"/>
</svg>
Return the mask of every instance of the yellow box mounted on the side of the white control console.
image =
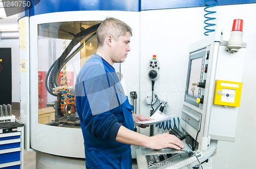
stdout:
<svg viewBox="0 0 256 169">
<path fill-rule="evenodd" d="M 214 92 L 214 104 L 225 106 L 240 106 L 242 82 L 216 80 Z"/>
</svg>

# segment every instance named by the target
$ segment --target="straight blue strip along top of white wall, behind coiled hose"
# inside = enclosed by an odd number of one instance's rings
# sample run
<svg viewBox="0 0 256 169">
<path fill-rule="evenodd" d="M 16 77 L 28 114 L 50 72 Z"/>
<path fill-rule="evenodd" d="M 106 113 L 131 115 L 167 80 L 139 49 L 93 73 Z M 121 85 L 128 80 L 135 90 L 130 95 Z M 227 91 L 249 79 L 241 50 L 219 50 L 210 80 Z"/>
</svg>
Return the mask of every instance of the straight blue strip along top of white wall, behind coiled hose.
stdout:
<svg viewBox="0 0 256 169">
<path fill-rule="evenodd" d="M 217 5 L 233 5 L 233 4 L 249 4 L 256 3 L 256 0 L 226 0 L 217 1 Z M 155 9 L 172 9 L 172 8 L 189 8 L 189 7 L 204 7 L 204 0 L 141 0 L 141 10 Z"/>
</svg>

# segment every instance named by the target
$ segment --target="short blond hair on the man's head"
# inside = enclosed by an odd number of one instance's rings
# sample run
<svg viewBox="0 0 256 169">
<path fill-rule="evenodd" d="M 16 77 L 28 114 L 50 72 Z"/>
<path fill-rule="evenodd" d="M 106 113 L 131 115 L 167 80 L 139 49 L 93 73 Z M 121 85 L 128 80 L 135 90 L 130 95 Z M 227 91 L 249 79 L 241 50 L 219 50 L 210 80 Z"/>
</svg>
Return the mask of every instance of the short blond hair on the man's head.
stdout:
<svg viewBox="0 0 256 169">
<path fill-rule="evenodd" d="M 130 32 L 131 36 L 133 36 L 129 25 L 119 19 L 107 17 L 101 22 L 97 30 L 98 47 L 103 46 L 106 36 L 111 35 L 115 41 L 118 41 L 118 38 L 124 36 L 126 32 Z"/>
</svg>

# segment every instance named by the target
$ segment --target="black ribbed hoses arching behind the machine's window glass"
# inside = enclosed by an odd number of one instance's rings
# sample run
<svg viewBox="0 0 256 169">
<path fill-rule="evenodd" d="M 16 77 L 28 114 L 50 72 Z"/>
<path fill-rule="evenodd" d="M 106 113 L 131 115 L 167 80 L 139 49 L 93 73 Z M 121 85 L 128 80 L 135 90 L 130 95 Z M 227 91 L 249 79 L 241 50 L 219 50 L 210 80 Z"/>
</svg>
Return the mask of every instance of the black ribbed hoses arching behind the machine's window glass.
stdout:
<svg viewBox="0 0 256 169">
<path fill-rule="evenodd" d="M 71 50 L 74 48 L 74 46 L 76 46 L 83 38 L 85 38 L 87 35 L 97 31 L 99 25 L 101 23 L 95 24 L 91 27 L 89 27 L 86 30 L 83 30 L 81 32 L 79 32 L 78 34 L 75 35 L 75 37 L 71 40 L 70 44 L 68 45 L 68 47 L 65 49 L 65 51 L 63 51 L 63 53 L 61 54 L 61 56 L 53 63 L 53 65 L 50 67 L 49 71 L 47 72 L 47 76 L 46 76 L 46 80 L 45 80 L 45 84 L 46 84 L 46 89 L 47 91 L 53 95 L 53 96 L 57 96 L 56 94 L 53 93 L 53 88 L 54 83 L 56 85 L 56 87 L 59 86 L 59 83 L 56 81 L 58 77 L 58 74 L 61 70 L 61 66 L 63 65 L 65 59 L 67 58 L 68 54 L 71 52 Z M 72 54 L 71 54 L 72 55 Z M 73 55 L 74 56 L 74 55 Z M 71 58 L 70 58 L 71 59 Z M 69 60 L 70 60 L 69 59 Z M 64 64 L 65 65 L 65 64 Z M 51 74 L 50 74 L 51 73 Z M 50 77 L 48 79 L 48 76 L 50 74 Z M 55 79 L 56 78 L 56 79 Z M 47 79 L 48 79 L 48 83 L 47 83 Z"/>
</svg>

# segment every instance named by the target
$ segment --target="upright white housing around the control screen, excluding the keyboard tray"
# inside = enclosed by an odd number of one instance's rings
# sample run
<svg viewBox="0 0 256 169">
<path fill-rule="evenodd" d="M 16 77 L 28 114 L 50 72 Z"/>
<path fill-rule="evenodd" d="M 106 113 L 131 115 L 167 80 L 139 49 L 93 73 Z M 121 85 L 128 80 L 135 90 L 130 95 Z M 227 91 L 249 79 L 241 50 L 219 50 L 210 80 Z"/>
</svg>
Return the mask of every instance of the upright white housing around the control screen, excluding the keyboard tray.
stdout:
<svg viewBox="0 0 256 169">
<path fill-rule="evenodd" d="M 245 47 L 238 53 L 228 53 L 225 51 L 227 41 L 222 41 L 222 32 L 217 31 L 188 47 L 189 62 L 194 52 L 205 48 L 200 81 L 187 79 L 186 97 L 182 108 L 181 126 L 203 149 L 209 146 L 209 139 L 225 140 L 234 142 L 238 107 L 222 106 L 212 104 L 215 80 L 242 81 L 243 63 L 245 57 Z M 191 66 L 189 64 L 189 66 Z M 205 71 L 206 68 L 206 72 Z M 188 68 L 188 77 L 190 67 Z M 196 103 L 196 98 L 188 95 L 189 86 L 194 82 L 203 82 L 205 88 L 199 88 L 199 97 L 203 98 L 203 103 Z M 196 87 L 197 88 L 197 87 Z M 202 98 L 201 98 L 202 99 Z M 187 124 L 186 124 L 187 123 Z"/>
</svg>

